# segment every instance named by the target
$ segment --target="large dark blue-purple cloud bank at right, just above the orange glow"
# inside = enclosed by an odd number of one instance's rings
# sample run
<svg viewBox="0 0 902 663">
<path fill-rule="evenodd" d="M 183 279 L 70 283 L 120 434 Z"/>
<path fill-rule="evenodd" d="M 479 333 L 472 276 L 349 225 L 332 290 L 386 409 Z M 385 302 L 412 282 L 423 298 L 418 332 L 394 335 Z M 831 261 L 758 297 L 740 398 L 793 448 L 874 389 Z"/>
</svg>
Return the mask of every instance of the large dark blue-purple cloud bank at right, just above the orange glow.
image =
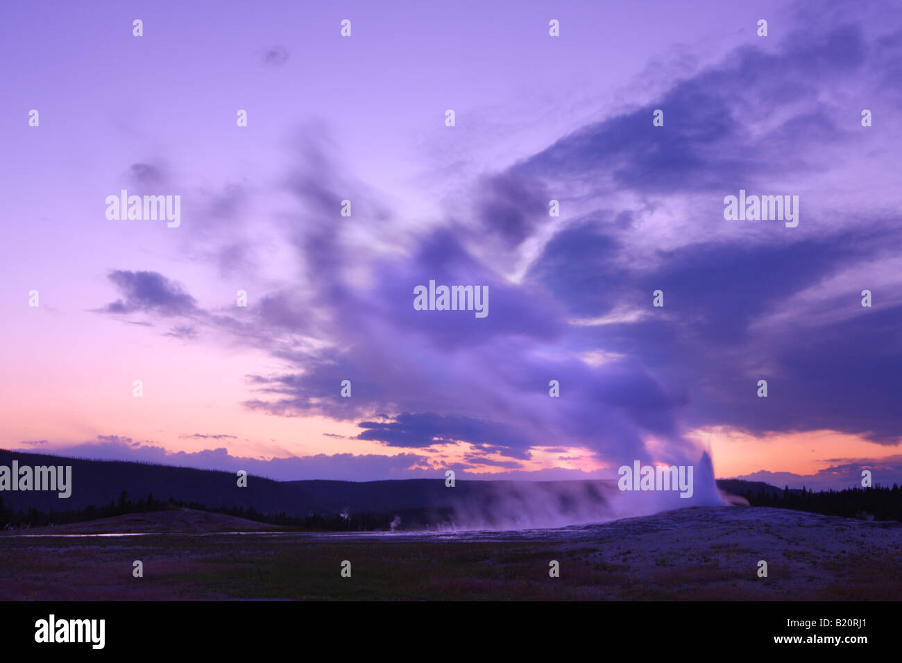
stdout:
<svg viewBox="0 0 902 663">
<path fill-rule="evenodd" d="M 835 294 L 848 315 L 816 333 L 792 327 L 775 333 L 754 324 L 841 265 L 897 253 L 897 233 L 865 225 L 783 244 L 687 244 L 634 273 L 607 266 L 605 257 L 614 259 L 616 249 L 598 225 L 573 226 L 548 244 L 531 278 L 574 315 L 602 316 L 623 304 L 651 311 L 638 321 L 590 327 L 582 337 L 633 357 L 683 393 L 675 404 L 689 406 L 682 413 L 687 423 L 755 433 L 829 428 L 898 443 L 902 422 L 889 394 L 902 390 L 895 338 L 902 308 L 861 308 L 859 291 L 849 290 Z M 658 288 L 666 306 L 652 309 L 650 293 Z M 755 366 L 758 372 L 750 373 Z M 769 380 L 768 400 L 755 395 L 759 379 Z M 636 402 L 645 397 L 630 394 Z"/>
</svg>

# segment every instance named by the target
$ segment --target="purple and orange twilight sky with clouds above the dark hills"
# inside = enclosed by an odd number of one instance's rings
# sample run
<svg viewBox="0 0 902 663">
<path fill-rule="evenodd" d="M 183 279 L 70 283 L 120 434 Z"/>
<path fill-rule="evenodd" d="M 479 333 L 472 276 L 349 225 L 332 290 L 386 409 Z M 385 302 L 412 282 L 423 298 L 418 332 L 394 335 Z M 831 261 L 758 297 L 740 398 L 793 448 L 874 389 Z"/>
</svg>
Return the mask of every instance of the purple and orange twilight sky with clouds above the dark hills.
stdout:
<svg viewBox="0 0 902 663">
<path fill-rule="evenodd" d="M 11 5 L 0 446 L 350 480 L 710 448 L 719 477 L 900 482 L 900 19 Z M 179 227 L 107 219 L 121 189 L 179 195 Z M 740 189 L 798 196 L 798 226 L 725 220 Z M 414 310 L 429 280 L 487 285 L 488 317 Z"/>
</svg>

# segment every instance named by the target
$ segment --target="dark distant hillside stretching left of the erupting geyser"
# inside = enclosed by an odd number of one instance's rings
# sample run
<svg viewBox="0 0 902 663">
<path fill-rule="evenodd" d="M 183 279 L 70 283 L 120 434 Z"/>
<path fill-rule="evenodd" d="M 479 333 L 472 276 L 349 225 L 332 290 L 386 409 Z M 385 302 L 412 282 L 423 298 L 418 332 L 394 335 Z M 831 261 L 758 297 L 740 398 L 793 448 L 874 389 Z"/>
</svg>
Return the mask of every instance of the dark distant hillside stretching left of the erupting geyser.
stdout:
<svg viewBox="0 0 902 663">
<path fill-rule="evenodd" d="M 457 481 L 454 490 L 444 477 L 401 481 L 288 481 L 249 476 L 239 488 L 235 474 L 171 465 L 100 461 L 27 454 L 0 449 L 0 465 L 71 465 L 72 491 L 67 499 L 51 492 L 0 493 L 6 510 L 76 511 L 153 496 L 156 501 L 196 502 L 208 508 L 253 509 L 261 514 L 284 513 L 294 518 L 311 514 L 361 511 L 438 509 L 465 511 L 470 520 L 492 523 L 499 513 L 554 520 L 562 515 L 603 516 L 604 494 L 616 490 L 612 482 Z M 599 518 L 600 520 L 600 518 Z"/>
</svg>

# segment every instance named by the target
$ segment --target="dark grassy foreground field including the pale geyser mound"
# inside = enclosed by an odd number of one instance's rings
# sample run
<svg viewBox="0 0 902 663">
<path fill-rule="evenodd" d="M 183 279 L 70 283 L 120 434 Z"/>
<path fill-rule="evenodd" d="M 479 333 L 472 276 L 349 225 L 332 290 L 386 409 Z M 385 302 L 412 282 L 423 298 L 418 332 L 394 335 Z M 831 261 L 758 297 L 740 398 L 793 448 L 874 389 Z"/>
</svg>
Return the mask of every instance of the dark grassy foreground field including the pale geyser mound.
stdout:
<svg viewBox="0 0 902 663">
<path fill-rule="evenodd" d="M 768 577 L 757 574 L 762 559 Z M 134 560 L 143 562 L 143 577 L 133 577 Z M 343 560 L 351 562 L 351 577 L 340 575 Z M 560 577 L 548 576 L 550 560 L 560 563 Z M 900 596 L 902 526 L 779 509 L 696 508 L 544 532 L 448 538 L 286 532 L 0 537 L 2 600 Z"/>
</svg>

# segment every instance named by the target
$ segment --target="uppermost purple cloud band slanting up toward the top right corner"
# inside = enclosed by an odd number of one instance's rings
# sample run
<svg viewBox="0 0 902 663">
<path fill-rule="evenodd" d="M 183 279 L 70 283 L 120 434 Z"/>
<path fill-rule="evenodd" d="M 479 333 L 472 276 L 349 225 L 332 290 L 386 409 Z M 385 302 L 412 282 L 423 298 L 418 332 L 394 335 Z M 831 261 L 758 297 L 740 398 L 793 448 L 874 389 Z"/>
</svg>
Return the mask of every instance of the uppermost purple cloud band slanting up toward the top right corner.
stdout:
<svg viewBox="0 0 902 663">
<path fill-rule="evenodd" d="M 802 155 L 814 144 L 851 140 L 844 118 L 820 101 L 819 79 L 854 75 L 863 67 L 861 28 L 824 36 L 796 33 L 769 54 L 746 47 L 723 65 L 677 83 L 663 98 L 625 115 L 587 125 L 513 169 L 520 176 L 591 182 L 598 190 L 686 194 L 752 188 L 762 180 L 824 170 Z M 805 110 L 798 110 L 798 108 Z M 651 126 L 664 111 L 663 127 Z M 750 120 L 792 112 L 768 133 Z M 807 143 L 808 150 L 793 146 Z"/>
</svg>

